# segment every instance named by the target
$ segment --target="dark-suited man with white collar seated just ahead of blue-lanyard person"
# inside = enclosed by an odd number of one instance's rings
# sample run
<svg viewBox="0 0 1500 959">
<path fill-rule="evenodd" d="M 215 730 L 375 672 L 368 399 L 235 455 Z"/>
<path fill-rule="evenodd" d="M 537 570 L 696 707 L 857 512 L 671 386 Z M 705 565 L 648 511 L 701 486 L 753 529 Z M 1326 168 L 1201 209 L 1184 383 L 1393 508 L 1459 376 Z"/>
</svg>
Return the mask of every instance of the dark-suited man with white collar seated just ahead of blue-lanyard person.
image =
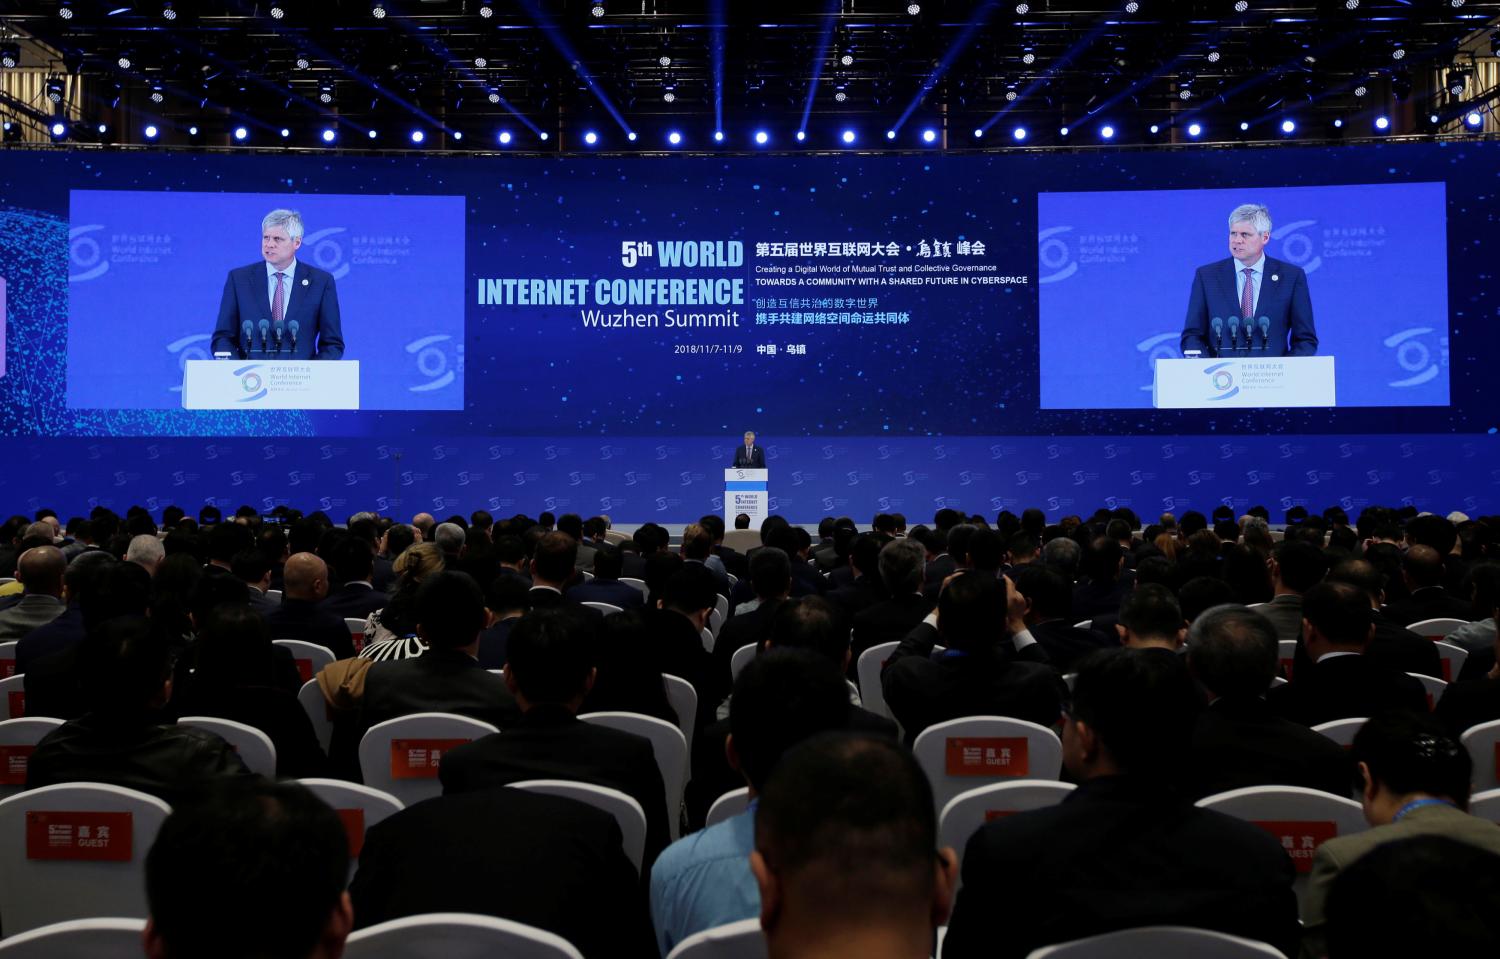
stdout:
<svg viewBox="0 0 1500 959">
<path fill-rule="evenodd" d="M 1302 620 L 1312 663 L 1268 693 L 1278 716 L 1316 726 L 1386 710 L 1426 711 L 1420 683 L 1365 654 L 1376 627 L 1364 593 L 1347 582 L 1320 582 L 1302 597 Z"/>
</svg>

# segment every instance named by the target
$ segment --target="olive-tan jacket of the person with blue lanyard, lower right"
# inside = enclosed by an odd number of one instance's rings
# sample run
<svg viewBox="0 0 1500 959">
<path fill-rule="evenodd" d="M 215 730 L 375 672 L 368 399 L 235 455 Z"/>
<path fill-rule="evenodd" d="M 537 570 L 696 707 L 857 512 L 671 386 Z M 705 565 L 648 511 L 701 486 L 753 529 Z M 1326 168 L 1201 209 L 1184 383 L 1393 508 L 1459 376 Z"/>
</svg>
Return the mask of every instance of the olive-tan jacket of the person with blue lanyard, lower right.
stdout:
<svg viewBox="0 0 1500 959">
<path fill-rule="evenodd" d="M 1443 836 L 1500 854 L 1500 825 L 1446 804 L 1418 806 L 1407 810 L 1396 822 L 1377 825 L 1353 836 L 1329 839 L 1318 846 L 1312 857 L 1312 875 L 1308 876 L 1308 885 L 1302 896 L 1304 956 L 1328 954 L 1323 912 L 1328 905 L 1328 891 L 1334 887 L 1338 875 L 1360 855 L 1372 852 L 1388 842 L 1418 836 Z"/>
</svg>

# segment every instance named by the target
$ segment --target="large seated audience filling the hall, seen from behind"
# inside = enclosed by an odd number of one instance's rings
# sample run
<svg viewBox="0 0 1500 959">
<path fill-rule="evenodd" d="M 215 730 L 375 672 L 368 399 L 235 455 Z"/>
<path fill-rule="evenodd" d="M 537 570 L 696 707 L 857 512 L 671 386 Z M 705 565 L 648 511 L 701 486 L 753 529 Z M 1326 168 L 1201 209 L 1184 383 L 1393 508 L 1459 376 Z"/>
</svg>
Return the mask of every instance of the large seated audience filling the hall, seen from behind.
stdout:
<svg viewBox="0 0 1500 959">
<path fill-rule="evenodd" d="M 728 546 L 717 516 L 676 543 L 550 513 L 14 516 L 0 650 L 26 714 L 64 720 L 26 788 L 171 804 L 146 861 L 162 959 L 336 957 L 352 930 L 429 912 L 590 957 L 664 957 L 752 918 L 776 959 L 930 956 L 939 927 L 957 959 L 1160 924 L 1335 959 L 1500 941 L 1500 825 L 1467 812 L 1461 744 L 1500 720 L 1500 518 L 1298 507 L 1272 531 L 1258 507 L 1144 528 L 1128 509 L 942 509 L 816 536 L 772 516 L 758 540 Z M 278 639 L 332 662 L 309 683 Z M 370 825 L 351 878 L 344 824 L 291 780 L 362 782 L 366 734 L 417 713 L 500 732 L 446 750 L 441 794 Z M 684 731 L 681 807 L 652 741 L 590 713 Z M 276 782 L 184 716 L 264 732 Z M 974 716 L 1054 731 L 1076 788 L 940 848 L 912 750 Z M 1316 729 L 1340 719 L 1365 720 L 1347 749 Z M 526 780 L 624 794 L 639 861 L 614 815 L 507 788 Z M 1353 798 L 1371 828 L 1299 878 L 1269 831 L 1196 804 L 1245 786 Z"/>
</svg>

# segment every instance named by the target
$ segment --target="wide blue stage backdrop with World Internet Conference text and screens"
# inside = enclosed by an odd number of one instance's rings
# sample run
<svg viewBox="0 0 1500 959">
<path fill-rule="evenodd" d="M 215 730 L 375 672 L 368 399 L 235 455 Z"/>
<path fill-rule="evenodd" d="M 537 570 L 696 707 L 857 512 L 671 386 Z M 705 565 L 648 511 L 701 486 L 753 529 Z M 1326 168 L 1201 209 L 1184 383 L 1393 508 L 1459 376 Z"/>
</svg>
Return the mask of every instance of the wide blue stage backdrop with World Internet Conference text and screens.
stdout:
<svg viewBox="0 0 1500 959">
<path fill-rule="evenodd" d="M 681 522 L 714 509 L 734 443 L 756 429 L 776 509 L 795 521 L 922 519 L 944 504 L 1500 512 L 1497 167 L 1491 143 L 567 159 L 6 150 L 0 503 L 550 506 Z M 1246 200 L 1269 203 L 1286 231 L 1272 252 L 1311 270 L 1341 398 L 1386 405 L 1142 408 L 1162 344 L 1140 344 L 1180 330 L 1192 269 L 1224 254 L 1228 210 Z M 304 261 L 350 267 L 338 282 L 350 354 L 369 365 L 364 408 L 182 410 L 171 387 L 206 344 L 190 338 L 212 332 L 226 270 L 255 260 L 278 206 L 322 233 Z M 1072 231 L 1038 242 L 1059 225 Z M 1384 245 L 1370 246 L 1382 227 Z M 1125 257 L 1110 246 L 1138 248 L 1128 281 L 1108 272 Z M 1102 276 L 1137 284 L 1142 303 L 1082 299 L 1110 296 Z M 1065 341 L 1054 321 L 1071 324 Z"/>
</svg>

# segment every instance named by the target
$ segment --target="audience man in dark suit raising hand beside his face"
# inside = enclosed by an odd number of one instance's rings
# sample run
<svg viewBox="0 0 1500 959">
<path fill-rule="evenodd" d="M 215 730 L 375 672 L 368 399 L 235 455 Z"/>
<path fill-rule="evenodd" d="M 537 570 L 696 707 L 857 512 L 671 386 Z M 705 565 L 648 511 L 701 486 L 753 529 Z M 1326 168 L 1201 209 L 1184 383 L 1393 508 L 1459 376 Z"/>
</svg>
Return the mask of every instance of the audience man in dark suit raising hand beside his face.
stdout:
<svg viewBox="0 0 1500 959">
<path fill-rule="evenodd" d="M 1017 660 L 1026 600 L 1008 579 L 969 572 L 938 597 L 938 629 L 926 623 L 896 647 L 880 683 L 908 743 L 933 723 L 960 716 L 1011 716 L 1042 726 L 1058 722 L 1060 681 L 1036 662 Z M 946 651 L 932 659 L 940 641 Z"/>
</svg>

